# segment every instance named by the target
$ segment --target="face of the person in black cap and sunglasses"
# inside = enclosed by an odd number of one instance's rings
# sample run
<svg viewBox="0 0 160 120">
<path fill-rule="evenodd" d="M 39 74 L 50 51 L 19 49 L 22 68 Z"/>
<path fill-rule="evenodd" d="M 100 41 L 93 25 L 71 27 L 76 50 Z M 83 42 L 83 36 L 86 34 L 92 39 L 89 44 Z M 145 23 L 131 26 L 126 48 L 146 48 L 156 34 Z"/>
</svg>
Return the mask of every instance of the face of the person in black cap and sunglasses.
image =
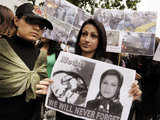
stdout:
<svg viewBox="0 0 160 120">
<path fill-rule="evenodd" d="M 22 17 L 20 19 L 15 18 L 14 22 L 18 28 L 17 36 L 30 41 L 36 41 L 41 38 L 44 30 L 38 25 L 39 20 L 29 23 L 25 17 Z"/>
</svg>

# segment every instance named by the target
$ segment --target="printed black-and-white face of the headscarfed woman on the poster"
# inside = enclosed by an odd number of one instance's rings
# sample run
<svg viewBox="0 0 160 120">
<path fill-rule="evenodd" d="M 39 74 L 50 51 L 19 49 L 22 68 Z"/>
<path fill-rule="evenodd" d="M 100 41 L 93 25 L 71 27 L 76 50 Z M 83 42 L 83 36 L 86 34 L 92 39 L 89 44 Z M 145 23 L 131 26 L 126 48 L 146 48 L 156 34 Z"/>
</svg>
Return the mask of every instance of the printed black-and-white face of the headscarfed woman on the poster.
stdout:
<svg viewBox="0 0 160 120">
<path fill-rule="evenodd" d="M 105 98 L 112 98 L 118 88 L 118 78 L 115 75 L 107 75 L 101 83 L 101 94 Z"/>
</svg>

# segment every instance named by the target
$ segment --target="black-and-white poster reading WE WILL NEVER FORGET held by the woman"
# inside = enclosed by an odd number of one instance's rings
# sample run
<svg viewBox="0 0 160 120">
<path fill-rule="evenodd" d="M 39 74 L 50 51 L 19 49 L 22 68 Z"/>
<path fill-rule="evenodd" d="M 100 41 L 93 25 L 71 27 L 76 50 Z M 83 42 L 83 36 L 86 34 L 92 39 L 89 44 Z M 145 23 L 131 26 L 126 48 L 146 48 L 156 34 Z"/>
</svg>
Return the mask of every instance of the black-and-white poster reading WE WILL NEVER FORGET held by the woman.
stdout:
<svg viewBox="0 0 160 120">
<path fill-rule="evenodd" d="M 83 119 L 127 120 L 135 70 L 61 52 L 45 105 Z"/>
</svg>

